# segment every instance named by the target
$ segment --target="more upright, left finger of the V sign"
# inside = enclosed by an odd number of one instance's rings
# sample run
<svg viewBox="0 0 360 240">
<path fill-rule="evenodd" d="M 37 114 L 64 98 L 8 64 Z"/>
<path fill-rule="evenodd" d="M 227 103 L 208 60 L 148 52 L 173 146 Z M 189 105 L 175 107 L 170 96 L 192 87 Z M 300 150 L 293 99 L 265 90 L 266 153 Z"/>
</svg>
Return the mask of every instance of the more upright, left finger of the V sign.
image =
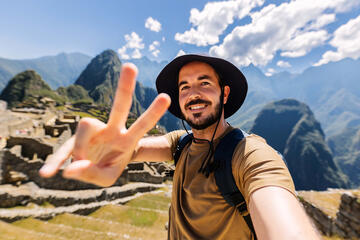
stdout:
<svg viewBox="0 0 360 240">
<path fill-rule="evenodd" d="M 114 103 L 109 116 L 110 127 L 124 127 L 135 90 L 135 78 L 137 68 L 132 63 L 125 63 L 121 69 L 118 86 L 115 93 Z"/>
</svg>

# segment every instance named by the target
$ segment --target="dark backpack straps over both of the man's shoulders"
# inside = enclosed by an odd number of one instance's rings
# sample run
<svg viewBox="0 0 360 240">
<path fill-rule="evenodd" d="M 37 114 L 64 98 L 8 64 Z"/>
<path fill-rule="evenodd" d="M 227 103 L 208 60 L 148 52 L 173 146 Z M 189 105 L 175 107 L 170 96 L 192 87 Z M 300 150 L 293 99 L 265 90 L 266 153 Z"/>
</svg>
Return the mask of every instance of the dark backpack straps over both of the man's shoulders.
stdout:
<svg viewBox="0 0 360 240">
<path fill-rule="evenodd" d="M 246 224 L 248 225 L 250 231 L 252 232 L 252 235 L 254 236 L 254 239 L 256 240 L 256 234 L 254 230 L 254 226 L 251 221 L 250 214 L 244 215 L 244 213 L 247 210 L 246 202 L 239 191 L 238 187 L 236 186 L 233 174 L 232 174 L 232 156 L 235 150 L 235 147 L 238 145 L 238 143 L 248 136 L 246 132 L 243 132 L 240 129 L 233 129 L 231 132 L 226 134 L 221 140 L 220 143 L 217 145 L 215 149 L 214 154 L 214 160 L 221 159 L 221 166 L 215 170 L 214 176 L 216 185 L 218 186 L 221 195 L 224 197 L 225 201 L 233 207 L 236 207 L 240 214 L 243 216 Z M 181 152 L 184 149 L 184 147 L 190 143 L 193 139 L 193 134 L 183 134 L 178 142 L 178 145 L 176 147 L 176 151 L 174 153 L 174 162 L 175 166 L 178 162 Z"/>
</svg>

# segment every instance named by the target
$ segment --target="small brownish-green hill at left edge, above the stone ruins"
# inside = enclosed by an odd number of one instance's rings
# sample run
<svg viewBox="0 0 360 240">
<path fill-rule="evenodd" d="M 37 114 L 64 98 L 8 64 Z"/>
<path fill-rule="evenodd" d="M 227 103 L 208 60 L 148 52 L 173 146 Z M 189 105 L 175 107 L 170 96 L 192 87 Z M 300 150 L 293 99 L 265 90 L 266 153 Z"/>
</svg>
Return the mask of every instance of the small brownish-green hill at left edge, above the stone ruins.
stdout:
<svg viewBox="0 0 360 240">
<path fill-rule="evenodd" d="M 4 90 L 0 99 L 8 103 L 10 108 L 20 106 L 37 97 L 50 97 L 58 103 L 63 103 L 64 98 L 51 90 L 50 86 L 33 70 L 17 74 L 13 77 Z"/>
</svg>

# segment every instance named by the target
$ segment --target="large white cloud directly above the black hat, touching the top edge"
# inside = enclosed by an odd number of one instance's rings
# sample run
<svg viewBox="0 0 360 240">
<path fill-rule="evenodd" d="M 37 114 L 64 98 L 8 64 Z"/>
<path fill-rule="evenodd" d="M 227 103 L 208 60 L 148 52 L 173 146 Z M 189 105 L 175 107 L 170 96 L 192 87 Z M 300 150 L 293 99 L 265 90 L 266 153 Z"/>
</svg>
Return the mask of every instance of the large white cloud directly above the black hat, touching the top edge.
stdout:
<svg viewBox="0 0 360 240">
<path fill-rule="evenodd" d="M 234 19 L 244 18 L 254 7 L 263 4 L 264 0 L 231 0 L 209 2 L 202 11 L 193 8 L 189 21 L 194 27 L 184 33 L 176 33 L 175 40 L 197 46 L 216 44 Z"/>
</svg>

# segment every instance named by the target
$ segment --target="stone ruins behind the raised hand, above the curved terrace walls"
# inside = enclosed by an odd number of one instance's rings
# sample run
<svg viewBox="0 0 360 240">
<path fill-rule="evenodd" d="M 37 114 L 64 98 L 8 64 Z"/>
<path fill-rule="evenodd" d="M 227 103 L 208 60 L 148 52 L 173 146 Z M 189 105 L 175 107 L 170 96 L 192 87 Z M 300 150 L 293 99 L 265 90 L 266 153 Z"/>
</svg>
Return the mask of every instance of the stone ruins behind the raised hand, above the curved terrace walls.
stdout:
<svg viewBox="0 0 360 240">
<path fill-rule="evenodd" d="M 21 110 L 24 111 L 24 110 Z M 33 112 L 31 109 L 29 112 Z M 98 189 L 98 186 L 62 177 L 62 171 L 54 177 L 41 178 L 38 170 L 49 155 L 68 140 L 76 130 L 78 116 L 60 114 L 43 115 L 45 119 L 33 129 L 30 136 L 9 134 L 5 146 L 0 150 L 0 184 L 23 184 L 34 182 L 37 186 L 57 190 Z M 33 123 L 33 122 L 31 122 Z M 29 128 L 29 122 L 16 125 L 18 129 Z M 14 126 L 9 126 L 14 128 Z M 14 131 L 10 131 L 14 132 Z M 31 136 L 35 135 L 36 137 Z M 128 182 L 162 183 L 169 178 L 171 167 L 165 163 L 130 163 L 115 186 Z"/>
</svg>

